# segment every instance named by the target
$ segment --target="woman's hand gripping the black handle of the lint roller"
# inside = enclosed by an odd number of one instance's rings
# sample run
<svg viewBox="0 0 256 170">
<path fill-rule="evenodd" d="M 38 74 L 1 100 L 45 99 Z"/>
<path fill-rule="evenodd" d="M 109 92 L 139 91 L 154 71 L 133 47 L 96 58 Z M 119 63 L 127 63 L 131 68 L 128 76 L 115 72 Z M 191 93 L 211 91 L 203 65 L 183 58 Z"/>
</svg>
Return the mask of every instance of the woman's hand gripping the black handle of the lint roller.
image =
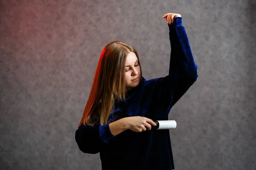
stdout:
<svg viewBox="0 0 256 170">
<path fill-rule="evenodd" d="M 134 132 L 142 132 L 151 130 L 151 125 L 156 126 L 155 122 L 151 119 L 142 116 L 131 116 L 123 118 L 127 129 Z"/>
</svg>

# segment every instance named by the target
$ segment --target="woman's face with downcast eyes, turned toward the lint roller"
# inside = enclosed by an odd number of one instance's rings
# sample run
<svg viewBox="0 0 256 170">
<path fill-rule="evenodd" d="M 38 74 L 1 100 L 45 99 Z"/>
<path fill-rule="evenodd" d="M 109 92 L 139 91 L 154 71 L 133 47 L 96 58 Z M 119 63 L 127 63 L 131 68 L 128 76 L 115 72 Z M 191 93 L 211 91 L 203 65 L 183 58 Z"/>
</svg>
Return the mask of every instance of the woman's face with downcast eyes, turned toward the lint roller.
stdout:
<svg viewBox="0 0 256 170">
<path fill-rule="evenodd" d="M 130 52 L 125 60 L 125 85 L 128 90 L 139 85 L 140 82 L 140 65 L 134 52 Z"/>
</svg>

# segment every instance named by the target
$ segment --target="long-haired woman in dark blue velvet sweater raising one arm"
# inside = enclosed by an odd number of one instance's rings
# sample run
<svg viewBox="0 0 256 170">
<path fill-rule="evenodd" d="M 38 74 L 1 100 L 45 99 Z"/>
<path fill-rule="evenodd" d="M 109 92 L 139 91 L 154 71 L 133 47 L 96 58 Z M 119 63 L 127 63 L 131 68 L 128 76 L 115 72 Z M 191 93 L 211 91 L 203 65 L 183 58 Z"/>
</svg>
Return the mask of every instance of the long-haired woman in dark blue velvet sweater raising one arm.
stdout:
<svg viewBox="0 0 256 170">
<path fill-rule="evenodd" d="M 166 77 L 146 80 L 137 51 L 124 42 L 102 51 L 76 130 L 79 149 L 100 153 L 102 170 L 174 169 L 169 130 L 156 130 L 154 121 L 168 120 L 198 74 L 180 14 L 163 18 L 172 49 Z"/>
</svg>

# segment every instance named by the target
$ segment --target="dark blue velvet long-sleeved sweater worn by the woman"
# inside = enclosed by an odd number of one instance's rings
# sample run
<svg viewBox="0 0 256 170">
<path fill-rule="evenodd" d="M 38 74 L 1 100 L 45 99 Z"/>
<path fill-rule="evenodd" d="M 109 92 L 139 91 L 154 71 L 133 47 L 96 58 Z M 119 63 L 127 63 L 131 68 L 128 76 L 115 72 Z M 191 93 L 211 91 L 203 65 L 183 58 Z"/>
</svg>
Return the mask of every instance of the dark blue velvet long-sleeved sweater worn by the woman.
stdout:
<svg viewBox="0 0 256 170">
<path fill-rule="evenodd" d="M 117 102 L 109 116 L 109 123 L 128 116 L 143 116 L 153 121 L 168 120 L 172 106 L 196 81 L 189 40 L 176 17 L 169 26 L 171 58 L 166 77 L 146 80 L 126 92 L 126 102 Z M 169 130 L 134 132 L 125 130 L 113 136 L 106 125 L 80 126 L 75 139 L 84 153 L 100 153 L 102 170 L 172 170 L 174 160 Z"/>
</svg>

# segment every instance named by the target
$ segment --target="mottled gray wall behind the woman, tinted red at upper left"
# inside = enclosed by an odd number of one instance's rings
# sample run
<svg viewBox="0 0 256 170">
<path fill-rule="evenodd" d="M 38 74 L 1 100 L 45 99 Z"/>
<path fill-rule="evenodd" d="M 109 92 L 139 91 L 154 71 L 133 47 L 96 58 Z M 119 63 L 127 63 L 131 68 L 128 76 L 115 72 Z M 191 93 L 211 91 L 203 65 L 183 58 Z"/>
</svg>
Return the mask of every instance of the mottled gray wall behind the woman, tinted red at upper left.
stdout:
<svg viewBox="0 0 256 170">
<path fill-rule="evenodd" d="M 165 77 L 180 13 L 198 80 L 169 119 L 176 170 L 256 169 L 256 0 L 1 0 L 0 170 L 100 170 L 75 131 L 102 49 L 137 49 Z"/>
</svg>

